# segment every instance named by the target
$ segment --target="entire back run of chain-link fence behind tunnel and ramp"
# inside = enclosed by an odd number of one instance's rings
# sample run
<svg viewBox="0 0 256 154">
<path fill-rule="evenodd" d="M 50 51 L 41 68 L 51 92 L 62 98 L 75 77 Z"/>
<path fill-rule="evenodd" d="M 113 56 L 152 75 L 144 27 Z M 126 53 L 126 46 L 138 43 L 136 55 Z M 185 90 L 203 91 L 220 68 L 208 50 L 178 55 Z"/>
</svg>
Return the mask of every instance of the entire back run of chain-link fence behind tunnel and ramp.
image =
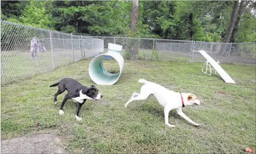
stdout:
<svg viewBox="0 0 256 154">
<path fill-rule="evenodd" d="M 220 63 L 256 64 L 256 43 L 214 43 L 85 35 L 104 40 L 105 50 L 108 43 L 122 45 L 123 52 L 121 54 L 127 59 L 204 62 L 205 58 L 198 52 L 204 50 Z"/>
</svg>

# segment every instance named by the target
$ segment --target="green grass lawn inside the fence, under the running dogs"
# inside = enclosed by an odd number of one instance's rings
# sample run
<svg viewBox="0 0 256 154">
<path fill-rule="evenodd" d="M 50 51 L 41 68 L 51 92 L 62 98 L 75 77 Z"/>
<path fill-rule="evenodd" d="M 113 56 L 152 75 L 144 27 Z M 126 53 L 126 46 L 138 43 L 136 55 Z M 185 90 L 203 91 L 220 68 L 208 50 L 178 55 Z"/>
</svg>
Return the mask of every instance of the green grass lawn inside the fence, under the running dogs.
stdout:
<svg viewBox="0 0 256 154">
<path fill-rule="evenodd" d="M 255 66 L 221 65 L 236 84 L 225 83 L 218 75 L 201 72 L 203 63 L 125 60 L 115 85 L 94 84 L 88 75 L 90 60 L 77 61 L 54 71 L 38 74 L 1 87 L 1 139 L 22 135 L 52 133 L 66 142 L 66 151 L 75 153 L 245 153 L 255 143 Z M 115 61 L 105 60 L 108 71 L 118 69 Z M 113 70 L 112 66 L 115 66 Z M 66 93 L 53 94 L 52 83 L 72 77 L 83 85 L 94 85 L 102 100 L 88 100 L 80 111 L 82 122 L 74 116 L 76 105 L 66 102 L 59 116 L 59 106 Z M 169 114 L 165 125 L 163 108 L 153 96 L 146 100 L 124 103 L 139 92 L 146 79 L 168 89 L 194 93 L 201 106 L 183 108 L 194 127 L 178 116 Z"/>
</svg>

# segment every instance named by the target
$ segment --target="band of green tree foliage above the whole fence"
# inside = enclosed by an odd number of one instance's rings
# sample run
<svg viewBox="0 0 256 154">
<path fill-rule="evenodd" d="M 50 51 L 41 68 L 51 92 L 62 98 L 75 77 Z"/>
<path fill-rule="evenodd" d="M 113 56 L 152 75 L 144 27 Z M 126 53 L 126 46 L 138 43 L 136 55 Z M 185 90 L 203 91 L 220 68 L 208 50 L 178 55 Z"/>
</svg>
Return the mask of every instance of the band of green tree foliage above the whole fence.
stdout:
<svg viewBox="0 0 256 154">
<path fill-rule="evenodd" d="M 134 32 L 130 31 L 132 1 L 1 1 L 1 19 L 66 33 L 221 42 L 233 3 L 139 1 Z M 232 42 L 255 41 L 255 3 L 240 2 Z"/>
</svg>

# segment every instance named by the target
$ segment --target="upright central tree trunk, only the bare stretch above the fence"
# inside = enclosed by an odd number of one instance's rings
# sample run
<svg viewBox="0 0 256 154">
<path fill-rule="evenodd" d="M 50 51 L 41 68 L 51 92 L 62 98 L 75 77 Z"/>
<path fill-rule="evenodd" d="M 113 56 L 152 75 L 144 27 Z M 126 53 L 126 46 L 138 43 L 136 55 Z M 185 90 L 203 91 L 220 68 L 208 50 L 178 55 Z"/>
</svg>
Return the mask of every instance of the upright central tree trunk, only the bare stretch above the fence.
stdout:
<svg viewBox="0 0 256 154">
<path fill-rule="evenodd" d="M 138 23 L 138 0 L 132 1 L 132 19 L 130 22 L 130 30 L 136 30 L 137 23 Z"/>
</svg>

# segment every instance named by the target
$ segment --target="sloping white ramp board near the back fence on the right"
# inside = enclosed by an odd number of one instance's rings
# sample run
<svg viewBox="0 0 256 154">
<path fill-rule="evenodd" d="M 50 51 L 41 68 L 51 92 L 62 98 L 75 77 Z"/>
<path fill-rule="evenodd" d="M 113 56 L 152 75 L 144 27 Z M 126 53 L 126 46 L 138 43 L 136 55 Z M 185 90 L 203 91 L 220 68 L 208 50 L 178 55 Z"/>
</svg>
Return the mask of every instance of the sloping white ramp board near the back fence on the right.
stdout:
<svg viewBox="0 0 256 154">
<path fill-rule="evenodd" d="M 227 72 L 224 71 L 224 69 L 222 69 L 221 66 L 219 66 L 218 63 L 212 57 L 210 57 L 210 55 L 208 55 L 205 51 L 199 52 L 204 56 L 204 58 L 206 58 L 209 61 L 209 63 L 213 66 L 213 68 L 215 68 L 218 74 L 221 75 L 222 79 L 226 83 L 235 83 L 235 81 L 229 76 L 229 74 L 227 74 Z"/>
</svg>

